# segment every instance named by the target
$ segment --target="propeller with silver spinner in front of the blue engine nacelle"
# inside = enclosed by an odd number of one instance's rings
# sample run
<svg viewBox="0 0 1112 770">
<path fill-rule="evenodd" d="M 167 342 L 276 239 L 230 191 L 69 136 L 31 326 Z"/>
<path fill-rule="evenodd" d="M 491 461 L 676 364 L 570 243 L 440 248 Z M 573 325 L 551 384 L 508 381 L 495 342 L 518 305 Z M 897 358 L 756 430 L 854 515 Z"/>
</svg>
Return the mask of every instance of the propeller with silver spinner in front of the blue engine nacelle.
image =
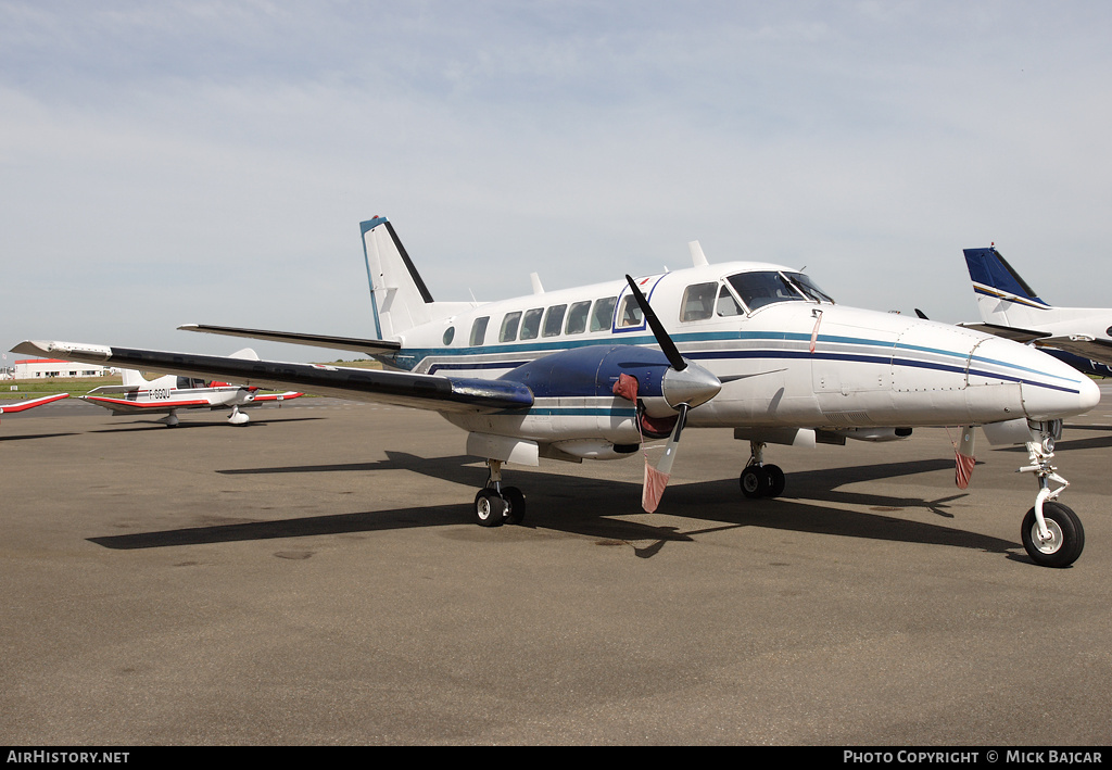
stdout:
<svg viewBox="0 0 1112 770">
<path fill-rule="evenodd" d="M 679 434 L 687 423 L 687 412 L 693 406 L 705 404 L 718 395 L 718 392 L 722 389 L 722 381 L 698 364 L 684 361 L 684 357 L 679 355 L 678 348 L 676 348 L 676 344 L 668 336 L 664 324 L 661 323 L 661 319 L 656 316 L 652 306 L 649 306 L 648 299 L 642 293 L 636 282 L 628 275 L 626 276 L 626 282 L 628 282 L 629 289 L 633 292 L 637 305 L 641 306 L 642 313 L 645 314 L 645 319 L 648 322 L 649 328 L 653 329 L 656 344 L 661 346 L 661 351 L 672 367 L 671 371 L 665 373 L 661 389 L 668 406 L 678 412 L 676 424 L 668 436 L 667 445 L 664 447 L 664 456 L 655 468 L 648 464 L 648 455 L 645 455 L 645 483 L 642 491 L 641 504 L 646 513 L 653 513 L 656 511 L 657 505 L 659 505 L 661 497 L 664 495 L 664 487 L 667 486 L 668 478 L 672 476 L 672 464 L 675 462 L 676 452 L 679 448 Z M 636 403 L 636 394 L 634 394 L 634 403 Z"/>
</svg>

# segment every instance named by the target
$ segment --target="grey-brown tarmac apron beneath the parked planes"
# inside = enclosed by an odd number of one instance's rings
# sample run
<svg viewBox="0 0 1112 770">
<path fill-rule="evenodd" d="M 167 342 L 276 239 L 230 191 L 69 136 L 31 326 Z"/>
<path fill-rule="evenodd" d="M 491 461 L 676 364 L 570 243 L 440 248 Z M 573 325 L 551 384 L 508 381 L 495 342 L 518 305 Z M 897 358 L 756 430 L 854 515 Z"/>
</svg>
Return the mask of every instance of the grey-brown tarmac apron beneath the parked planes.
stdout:
<svg viewBox="0 0 1112 770">
<path fill-rule="evenodd" d="M 1112 388 L 1066 424 L 1070 569 L 1035 566 L 1022 447 L 955 431 L 772 446 L 688 430 L 512 466 L 436 414 L 305 398 L 167 428 L 67 399 L 0 425 L 0 730 L 13 746 L 1112 744 Z M 659 448 L 647 450 L 655 463 Z"/>
</svg>

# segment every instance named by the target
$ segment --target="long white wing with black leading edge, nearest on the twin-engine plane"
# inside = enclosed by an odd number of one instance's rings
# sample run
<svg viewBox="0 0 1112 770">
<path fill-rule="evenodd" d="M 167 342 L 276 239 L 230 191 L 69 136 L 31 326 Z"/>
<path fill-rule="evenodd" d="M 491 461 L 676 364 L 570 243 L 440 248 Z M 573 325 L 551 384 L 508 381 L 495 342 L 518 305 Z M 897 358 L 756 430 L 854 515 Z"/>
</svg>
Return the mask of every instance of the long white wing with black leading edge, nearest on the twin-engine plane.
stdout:
<svg viewBox="0 0 1112 770">
<path fill-rule="evenodd" d="M 533 405 L 533 392 L 525 385 L 497 379 L 468 379 L 48 340 L 22 342 L 12 348 L 12 353 L 181 376 L 211 377 L 265 389 L 278 391 L 292 386 L 305 393 L 434 412 L 495 412 L 528 408 Z"/>
</svg>

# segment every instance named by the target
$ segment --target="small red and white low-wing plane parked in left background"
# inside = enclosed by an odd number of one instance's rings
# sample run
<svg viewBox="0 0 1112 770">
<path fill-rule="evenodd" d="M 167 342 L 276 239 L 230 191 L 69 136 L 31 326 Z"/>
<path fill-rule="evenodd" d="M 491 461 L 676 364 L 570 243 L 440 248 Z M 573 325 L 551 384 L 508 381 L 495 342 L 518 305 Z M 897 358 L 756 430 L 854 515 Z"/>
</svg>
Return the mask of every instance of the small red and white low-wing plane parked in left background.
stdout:
<svg viewBox="0 0 1112 770">
<path fill-rule="evenodd" d="M 232 357 L 258 361 L 258 356 L 249 348 L 232 354 Z M 122 379 L 120 385 L 101 385 L 78 398 L 111 409 L 113 414 L 166 414 L 159 422 L 173 427 L 178 424 L 178 409 L 230 408 L 228 422 L 231 425 L 245 425 L 250 422 L 250 417 L 240 412 L 240 408 L 302 395 L 294 391 L 260 394 L 257 387 L 215 381 L 206 383 L 203 379 L 175 374 L 148 381 L 137 369 L 122 369 Z"/>
</svg>

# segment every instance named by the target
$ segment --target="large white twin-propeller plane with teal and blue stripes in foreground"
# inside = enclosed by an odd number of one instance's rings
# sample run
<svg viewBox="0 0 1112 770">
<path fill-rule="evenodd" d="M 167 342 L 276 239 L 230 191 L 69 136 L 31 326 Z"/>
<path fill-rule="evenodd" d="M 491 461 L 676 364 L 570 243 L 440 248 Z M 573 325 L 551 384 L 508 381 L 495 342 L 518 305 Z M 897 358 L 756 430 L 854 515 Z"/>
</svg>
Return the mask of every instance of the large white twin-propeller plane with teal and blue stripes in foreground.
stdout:
<svg viewBox="0 0 1112 770">
<path fill-rule="evenodd" d="M 1084 546 L 1076 514 L 1056 500 L 1068 482 L 1050 461 L 1061 419 L 1100 391 L 1044 353 L 980 332 L 835 305 L 807 276 L 778 265 L 711 265 L 697 243 L 687 269 L 494 303 L 438 303 L 385 218 L 361 224 L 375 339 L 220 326 L 195 332 L 359 351 L 391 371 L 24 342 L 17 353 L 215 376 L 433 409 L 467 432 L 489 467 L 475 497 L 486 526 L 520 522 L 525 495 L 503 465 L 540 457 L 646 461 L 652 512 L 689 427 L 734 428 L 749 442 L 748 497 L 776 496 L 784 473 L 767 444 L 885 441 L 916 426 L 963 426 L 959 484 L 972 467 L 973 426 L 993 443 L 1023 443 L 1039 493 L 1022 524 L 1032 560 L 1073 563 Z M 686 435 L 686 434 L 684 434 Z M 1052 483 L 1058 486 L 1052 488 Z"/>
</svg>

